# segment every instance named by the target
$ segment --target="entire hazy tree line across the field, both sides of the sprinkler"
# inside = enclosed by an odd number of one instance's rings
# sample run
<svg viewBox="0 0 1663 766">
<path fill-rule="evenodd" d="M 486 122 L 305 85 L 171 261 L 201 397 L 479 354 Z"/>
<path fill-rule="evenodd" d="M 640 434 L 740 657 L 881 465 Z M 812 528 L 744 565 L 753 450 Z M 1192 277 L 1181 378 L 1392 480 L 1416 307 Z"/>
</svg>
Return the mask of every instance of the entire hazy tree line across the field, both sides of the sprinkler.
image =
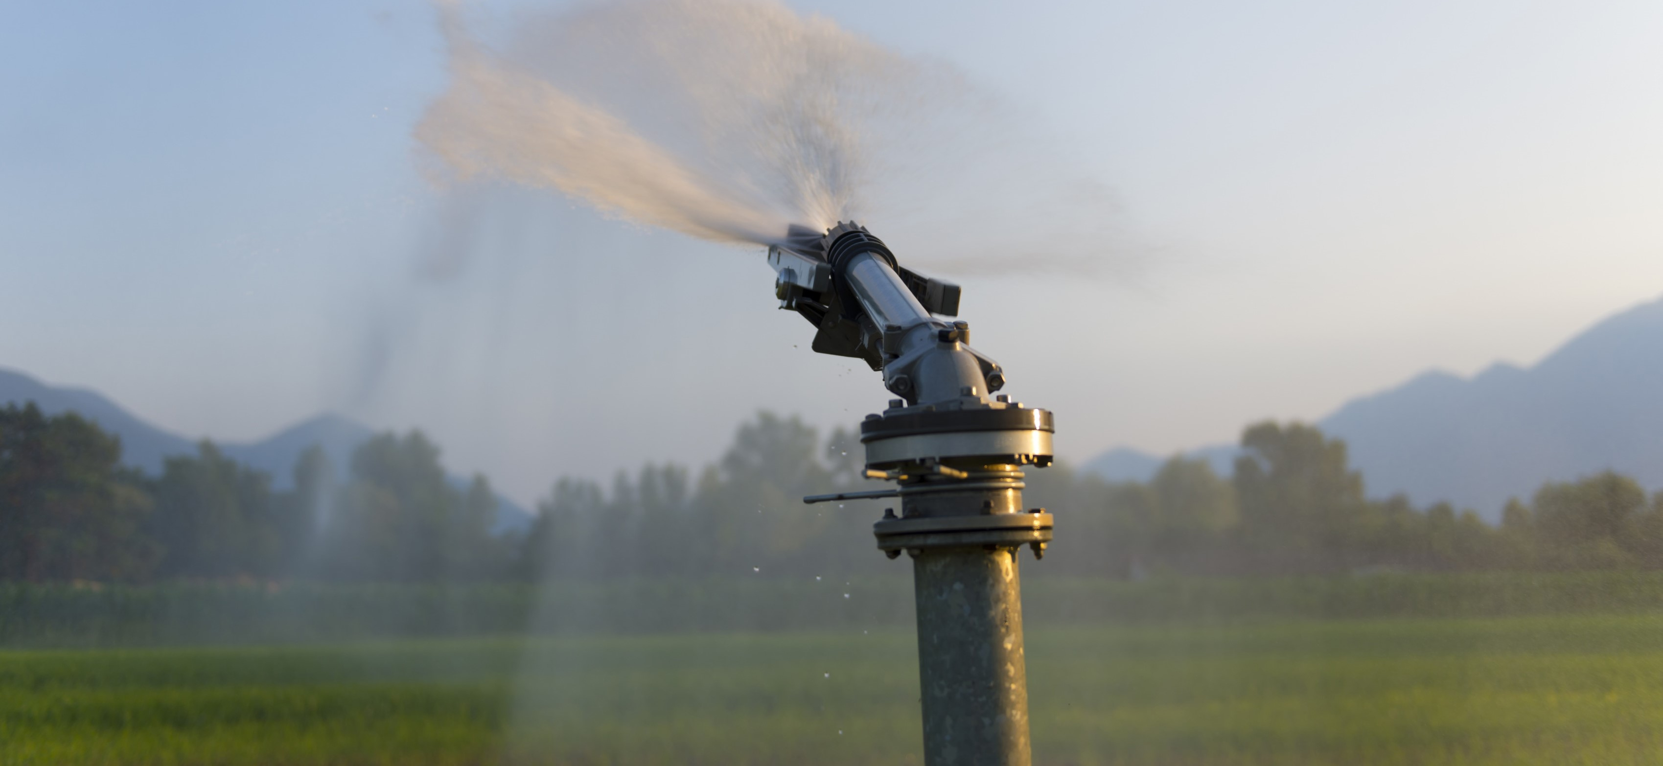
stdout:
<svg viewBox="0 0 1663 766">
<path fill-rule="evenodd" d="M 0 580 L 836 578 L 905 565 L 873 547 L 883 503 L 800 502 L 868 487 L 851 434 L 822 439 L 767 412 L 698 472 L 560 479 L 524 533 L 494 535 L 491 484 L 452 487 L 421 432 L 373 437 L 346 475 L 313 447 L 283 490 L 211 442 L 160 475 L 120 455 L 80 415 L 0 409 Z M 1051 555 L 1029 568 L 1039 577 L 1663 568 L 1663 493 L 1628 477 L 1550 482 L 1490 525 L 1447 503 L 1369 498 L 1345 444 L 1300 424 L 1246 429 L 1227 479 L 1182 455 L 1149 482 L 1058 465 L 1029 470 L 1024 497 L 1058 518 Z"/>
</svg>

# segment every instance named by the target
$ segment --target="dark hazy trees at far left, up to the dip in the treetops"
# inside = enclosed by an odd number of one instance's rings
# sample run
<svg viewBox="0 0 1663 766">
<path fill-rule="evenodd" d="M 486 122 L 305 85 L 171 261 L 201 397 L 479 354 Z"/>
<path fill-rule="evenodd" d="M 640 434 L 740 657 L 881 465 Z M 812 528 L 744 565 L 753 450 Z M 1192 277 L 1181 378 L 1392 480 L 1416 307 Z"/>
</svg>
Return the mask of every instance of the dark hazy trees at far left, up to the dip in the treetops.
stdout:
<svg viewBox="0 0 1663 766">
<path fill-rule="evenodd" d="M 0 409 L 0 580 L 471 580 L 517 553 L 489 482 L 452 489 L 421 432 L 376 435 L 339 479 L 313 447 L 281 492 L 206 440 L 155 477 L 120 460 L 73 412 Z"/>
</svg>

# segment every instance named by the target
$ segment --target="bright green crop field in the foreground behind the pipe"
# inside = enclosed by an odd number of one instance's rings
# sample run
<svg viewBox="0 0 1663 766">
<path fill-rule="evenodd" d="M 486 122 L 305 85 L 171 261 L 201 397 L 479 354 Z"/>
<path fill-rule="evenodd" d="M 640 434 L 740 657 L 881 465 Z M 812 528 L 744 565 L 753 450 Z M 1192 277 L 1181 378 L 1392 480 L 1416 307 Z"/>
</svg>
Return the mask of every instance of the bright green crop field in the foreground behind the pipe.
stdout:
<svg viewBox="0 0 1663 766">
<path fill-rule="evenodd" d="M 920 763 L 908 631 L 0 651 L 5 764 Z M 1041 764 L 1651 764 L 1663 616 L 1034 626 Z"/>
</svg>

